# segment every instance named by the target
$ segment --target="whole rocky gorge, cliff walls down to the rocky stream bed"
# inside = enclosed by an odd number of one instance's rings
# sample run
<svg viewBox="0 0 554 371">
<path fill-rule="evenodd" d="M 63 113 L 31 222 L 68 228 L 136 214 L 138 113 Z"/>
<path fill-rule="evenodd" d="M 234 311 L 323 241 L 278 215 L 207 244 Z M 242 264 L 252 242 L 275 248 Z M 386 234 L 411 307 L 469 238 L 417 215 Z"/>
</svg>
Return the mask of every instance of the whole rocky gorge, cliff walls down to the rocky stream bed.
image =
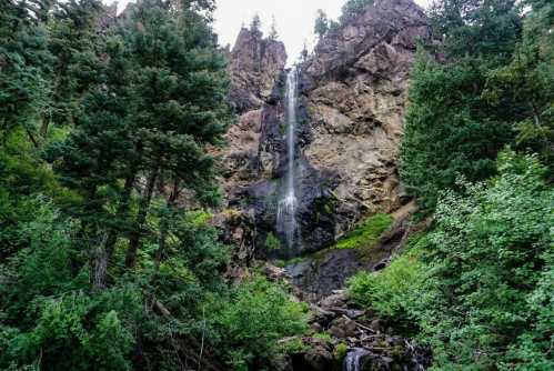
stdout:
<svg viewBox="0 0 554 371">
<path fill-rule="evenodd" d="M 340 290 L 355 272 L 384 268 L 416 228 L 397 160 L 416 43 L 431 38 L 412 0 L 377 0 L 294 68 L 280 41 L 246 28 L 229 52 L 239 120 L 219 153 L 226 207 L 218 220 L 239 247 L 236 265 L 271 261 L 266 273 L 311 302 L 314 334 L 330 334 L 304 339 L 309 350 L 283 370 L 340 369 L 336 352 L 346 350 L 349 371 L 420 370 L 429 361 Z M 283 202 L 293 235 L 279 227 Z"/>
</svg>

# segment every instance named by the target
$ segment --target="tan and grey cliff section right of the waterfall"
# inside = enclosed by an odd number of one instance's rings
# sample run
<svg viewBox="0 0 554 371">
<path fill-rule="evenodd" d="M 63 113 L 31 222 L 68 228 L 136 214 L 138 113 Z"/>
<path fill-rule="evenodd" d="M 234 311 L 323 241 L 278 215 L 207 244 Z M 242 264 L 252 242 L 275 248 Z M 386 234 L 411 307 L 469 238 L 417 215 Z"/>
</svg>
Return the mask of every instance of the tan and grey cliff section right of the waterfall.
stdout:
<svg viewBox="0 0 554 371">
<path fill-rule="evenodd" d="M 312 128 L 305 157 L 334 173 L 339 214 L 402 205 L 396 164 L 407 84 L 416 40 L 430 37 L 411 0 L 377 0 L 323 38 L 304 66 Z"/>
</svg>

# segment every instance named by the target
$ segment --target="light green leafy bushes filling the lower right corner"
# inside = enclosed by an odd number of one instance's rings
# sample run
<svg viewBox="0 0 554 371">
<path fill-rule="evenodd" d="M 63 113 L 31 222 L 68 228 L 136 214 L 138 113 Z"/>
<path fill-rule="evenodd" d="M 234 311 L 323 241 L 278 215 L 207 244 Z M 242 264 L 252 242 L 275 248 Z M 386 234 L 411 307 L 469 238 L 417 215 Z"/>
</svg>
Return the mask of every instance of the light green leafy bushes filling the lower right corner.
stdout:
<svg viewBox="0 0 554 371">
<path fill-rule="evenodd" d="M 552 368 L 554 191 L 536 158 L 503 152 L 488 183 L 460 182 L 434 229 L 351 294 L 402 315 L 433 345 L 437 369 Z"/>
</svg>

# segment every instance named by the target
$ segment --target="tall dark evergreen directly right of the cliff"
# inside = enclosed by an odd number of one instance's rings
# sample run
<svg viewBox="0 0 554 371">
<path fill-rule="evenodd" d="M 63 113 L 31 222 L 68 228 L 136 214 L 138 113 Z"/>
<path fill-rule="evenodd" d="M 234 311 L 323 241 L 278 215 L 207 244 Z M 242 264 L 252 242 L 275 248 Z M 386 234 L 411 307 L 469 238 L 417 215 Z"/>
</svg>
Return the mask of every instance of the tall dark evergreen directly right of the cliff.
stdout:
<svg viewBox="0 0 554 371">
<path fill-rule="evenodd" d="M 401 177 L 427 211 L 459 174 L 472 181 L 494 174 L 496 153 L 514 141 L 511 108 L 483 93 L 491 72 L 508 62 L 521 28 L 506 0 L 443 1 L 432 14 L 445 41 L 430 49 L 443 61 L 423 50 L 416 57 L 401 151 Z"/>
</svg>

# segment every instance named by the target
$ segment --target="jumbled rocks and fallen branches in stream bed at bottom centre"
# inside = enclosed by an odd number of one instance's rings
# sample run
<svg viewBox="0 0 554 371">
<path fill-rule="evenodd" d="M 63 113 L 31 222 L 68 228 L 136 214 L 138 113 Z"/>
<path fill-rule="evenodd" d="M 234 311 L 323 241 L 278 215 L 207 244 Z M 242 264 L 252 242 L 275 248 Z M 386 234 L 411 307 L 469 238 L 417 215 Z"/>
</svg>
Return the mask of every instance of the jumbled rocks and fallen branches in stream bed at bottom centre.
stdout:
<svg viewBox="0 0 554 371">
<path fill-rule="evenodd" d="M 311 312 L 312 334 L 301 339 L 305 350 L 281 360 L 272 370 L 387 371 L 425 370 L 431 365 L 429 348 L 394 334 L 371 309 L 360 310 L 350 303 L 344 291 L 334 291 L 312 304 Z"/>
</svg>

